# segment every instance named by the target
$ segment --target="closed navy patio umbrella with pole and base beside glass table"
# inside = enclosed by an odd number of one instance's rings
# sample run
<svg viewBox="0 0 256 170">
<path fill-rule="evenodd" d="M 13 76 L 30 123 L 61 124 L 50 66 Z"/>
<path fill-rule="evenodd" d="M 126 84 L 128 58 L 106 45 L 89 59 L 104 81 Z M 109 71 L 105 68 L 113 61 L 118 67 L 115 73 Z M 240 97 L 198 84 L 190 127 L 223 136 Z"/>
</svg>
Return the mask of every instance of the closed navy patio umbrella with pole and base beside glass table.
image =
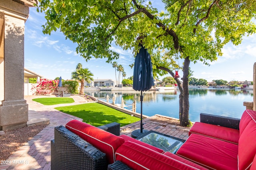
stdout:
<svg viewBox="0 0 256 170">
<path fill-rule="evenodd" d="M 133 85 L 132 88 L 136 91 L 140 91 L 140 129 L 132 132 L 132 137 L 136 138 L 148 130 L 143 129 L 142 123 L 142 91 L 148 91 L 154 85 L 153 71 L 151 57 L 147 49 L 140 45 L 140 51 L 135 57 L 134 72 L 133 72 Z"/>
</svg>

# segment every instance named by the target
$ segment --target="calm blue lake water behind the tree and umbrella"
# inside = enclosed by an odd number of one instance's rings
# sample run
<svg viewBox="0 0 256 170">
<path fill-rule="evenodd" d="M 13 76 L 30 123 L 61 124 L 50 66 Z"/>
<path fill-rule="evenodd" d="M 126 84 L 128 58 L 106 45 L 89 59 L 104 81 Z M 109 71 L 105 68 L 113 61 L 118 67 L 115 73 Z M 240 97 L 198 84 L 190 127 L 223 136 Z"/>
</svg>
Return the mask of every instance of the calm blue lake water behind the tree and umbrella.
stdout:
<svg viewBox="0 0 256 170">
<path fill-rule="evenodd" d="M 136 100 L 136 112 L 140 113 L 140 92 L 85 91 L 85 94 L 99 98 L 106 97 L 107 95 L 110 98 L 116 96 L 116 103 L 121 103 L 122 97 L 128 104 Z M 143 115 L 153 116 L 159 114 L 179 118 L 179 90 L 146 91 L 143 94 Z M 189 119 L 192 122 L 200 121 L 200 113 L 240 119 L 246 109 L 243 105 L 244 101 L 253 101 L 253 90 L 194 88 L 189 90 L 189 94 Z M 101 100 L 104 99 L 102 98 Z"/>
</svg>

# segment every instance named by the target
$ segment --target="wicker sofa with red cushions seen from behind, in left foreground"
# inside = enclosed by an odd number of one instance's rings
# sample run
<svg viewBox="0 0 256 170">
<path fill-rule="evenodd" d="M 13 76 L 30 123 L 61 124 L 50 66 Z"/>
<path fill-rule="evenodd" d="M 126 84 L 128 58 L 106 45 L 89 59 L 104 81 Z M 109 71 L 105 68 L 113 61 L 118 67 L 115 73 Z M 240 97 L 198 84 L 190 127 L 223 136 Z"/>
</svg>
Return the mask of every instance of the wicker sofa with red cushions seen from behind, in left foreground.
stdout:
<svg viewBox="0 0 256 170">
<path fill-rule="evenodd" d="M 171 152 L 119 134 L 118 123 L 96 128 L 72 120 L 65 127 L 55 127 L 51 170 L 206 169 Z"/>
</svg>

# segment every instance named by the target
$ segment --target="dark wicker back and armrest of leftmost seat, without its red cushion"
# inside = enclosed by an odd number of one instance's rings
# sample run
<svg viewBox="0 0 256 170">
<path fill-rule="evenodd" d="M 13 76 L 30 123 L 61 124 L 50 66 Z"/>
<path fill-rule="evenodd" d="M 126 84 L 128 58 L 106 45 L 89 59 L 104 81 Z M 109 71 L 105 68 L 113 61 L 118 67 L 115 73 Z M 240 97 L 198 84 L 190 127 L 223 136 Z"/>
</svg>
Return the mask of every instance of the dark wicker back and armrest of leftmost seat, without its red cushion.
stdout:
<svg viewBox="0 0 256 170">
<path fill-rule="evenodd" d="M 117 136 L 120 135 L 118 123 L 110 123 L 98 128 Z M 51 141 L 52 170 L 102 170 L 107 166 L 105 153 L 62 125 L 54 128 L 54 140 Z"/>
</svg>

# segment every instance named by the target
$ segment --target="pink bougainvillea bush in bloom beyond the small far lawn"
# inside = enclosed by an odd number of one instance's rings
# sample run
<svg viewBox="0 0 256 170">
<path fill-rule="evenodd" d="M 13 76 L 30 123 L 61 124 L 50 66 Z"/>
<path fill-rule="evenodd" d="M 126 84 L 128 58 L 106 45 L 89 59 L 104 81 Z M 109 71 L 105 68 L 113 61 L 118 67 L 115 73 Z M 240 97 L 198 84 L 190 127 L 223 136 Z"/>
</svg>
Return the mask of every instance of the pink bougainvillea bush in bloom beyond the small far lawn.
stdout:
<svg viewBox="0 0 256 170">
<path fill-rule="evenodd" d="M 32 87 L 31 90 L 35 89 L 36 92 L 34 94 L 38 94 L 39 90 L 50 90 L 50 93 L 52 93 L 56 91 L 58 84 L 59 80 L 40 79 L 40 82 L 35 87 Z"/>
</svg>

